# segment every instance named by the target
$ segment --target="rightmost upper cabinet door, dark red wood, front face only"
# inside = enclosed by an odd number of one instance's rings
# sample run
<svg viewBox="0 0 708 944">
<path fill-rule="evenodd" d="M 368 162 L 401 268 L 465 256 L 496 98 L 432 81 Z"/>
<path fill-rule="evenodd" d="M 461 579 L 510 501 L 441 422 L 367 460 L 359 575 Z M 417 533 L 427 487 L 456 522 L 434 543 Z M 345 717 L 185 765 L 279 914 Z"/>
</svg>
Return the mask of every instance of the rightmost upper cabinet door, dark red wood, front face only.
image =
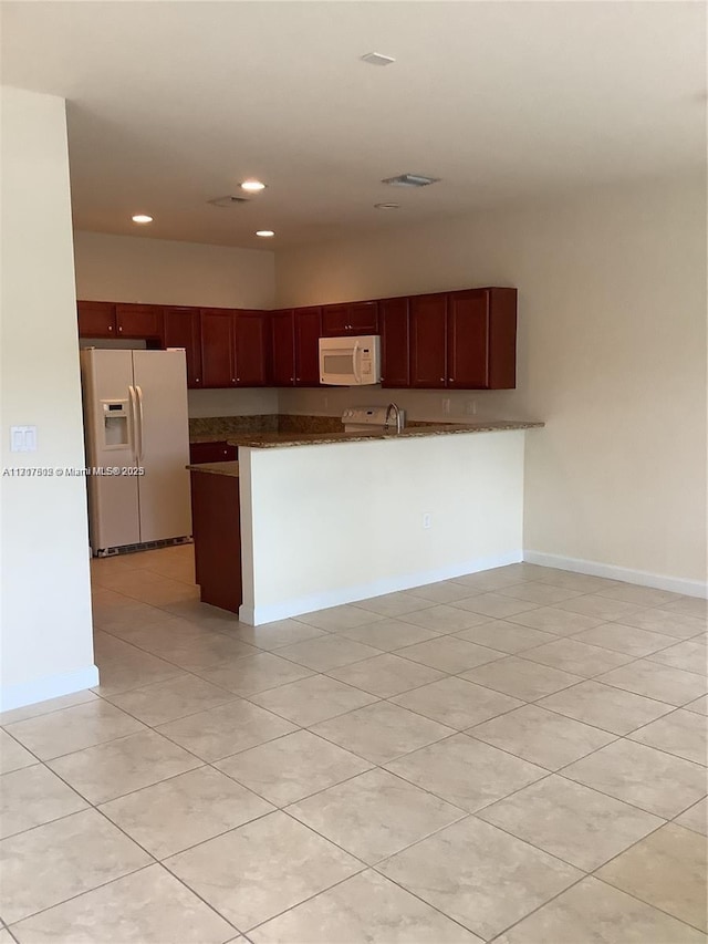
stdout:
<svg viewBox="0 0 708 944">
<path fill-rule="evenodd" d="M 450 292 L 447 307 L 447 385 L 489 386 L 489 293 Z"/>
</svg>

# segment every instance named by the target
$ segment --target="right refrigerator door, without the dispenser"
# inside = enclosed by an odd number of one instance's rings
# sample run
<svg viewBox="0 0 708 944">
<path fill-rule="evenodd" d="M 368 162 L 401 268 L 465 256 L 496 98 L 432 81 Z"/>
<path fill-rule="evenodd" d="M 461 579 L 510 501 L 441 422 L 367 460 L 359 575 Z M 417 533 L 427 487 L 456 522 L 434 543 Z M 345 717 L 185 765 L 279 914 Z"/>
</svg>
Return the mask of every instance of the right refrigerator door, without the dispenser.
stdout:
<svg viewBox="0 0 708 944">
<path fill-rule="evenodd" d="M 136 392 L 140 541 L 191 535 L 184 351 L 132 351 Z"/>
</svg>

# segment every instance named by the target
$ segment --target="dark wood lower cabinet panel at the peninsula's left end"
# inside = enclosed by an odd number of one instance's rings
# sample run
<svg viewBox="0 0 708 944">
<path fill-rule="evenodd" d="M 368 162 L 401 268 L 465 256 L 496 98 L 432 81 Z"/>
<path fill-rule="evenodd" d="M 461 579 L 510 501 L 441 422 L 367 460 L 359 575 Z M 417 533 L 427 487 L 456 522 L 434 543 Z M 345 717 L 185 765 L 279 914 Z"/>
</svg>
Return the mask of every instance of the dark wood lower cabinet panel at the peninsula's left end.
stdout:
<svg viewBox="0 0 708 944">
<path fill-rule="evenodd" d="M 242 602 L 238 476 L 192 470 L 190 477 L 195 574 L 201 602 L 238 613 Z"/>
</svg>

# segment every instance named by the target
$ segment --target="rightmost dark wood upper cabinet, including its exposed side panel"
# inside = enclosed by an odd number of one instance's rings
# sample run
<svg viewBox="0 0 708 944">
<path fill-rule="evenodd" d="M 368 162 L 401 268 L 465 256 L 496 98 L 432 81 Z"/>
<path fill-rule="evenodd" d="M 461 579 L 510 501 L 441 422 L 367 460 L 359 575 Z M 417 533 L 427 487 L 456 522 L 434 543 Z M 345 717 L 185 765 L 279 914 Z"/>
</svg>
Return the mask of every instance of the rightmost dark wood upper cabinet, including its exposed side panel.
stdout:
<svg viewBox="0 0 708 944">
<path fill-rule="evenodd" d="M 475 289 L 448 294 L 448 387 L 516 386 L 516 289 Z"/>
</svg>

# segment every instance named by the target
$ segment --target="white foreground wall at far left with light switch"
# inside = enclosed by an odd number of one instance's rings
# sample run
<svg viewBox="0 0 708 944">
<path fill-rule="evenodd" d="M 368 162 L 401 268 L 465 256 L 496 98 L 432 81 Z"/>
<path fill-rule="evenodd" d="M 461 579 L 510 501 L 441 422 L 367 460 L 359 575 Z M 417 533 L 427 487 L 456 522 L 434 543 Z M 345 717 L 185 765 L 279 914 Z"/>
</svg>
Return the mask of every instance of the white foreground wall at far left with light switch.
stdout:
<svg viewBox="0 0 708 944">
<path fill-rule="evenodd" d="M 64 101 L 2 89 L 3 469 L 83 467 Z M 35 453 L 10 426 L 35 425 Z M 3 709 L 97 684 L 83 478 L 0 477 Z"/>
</svg>

